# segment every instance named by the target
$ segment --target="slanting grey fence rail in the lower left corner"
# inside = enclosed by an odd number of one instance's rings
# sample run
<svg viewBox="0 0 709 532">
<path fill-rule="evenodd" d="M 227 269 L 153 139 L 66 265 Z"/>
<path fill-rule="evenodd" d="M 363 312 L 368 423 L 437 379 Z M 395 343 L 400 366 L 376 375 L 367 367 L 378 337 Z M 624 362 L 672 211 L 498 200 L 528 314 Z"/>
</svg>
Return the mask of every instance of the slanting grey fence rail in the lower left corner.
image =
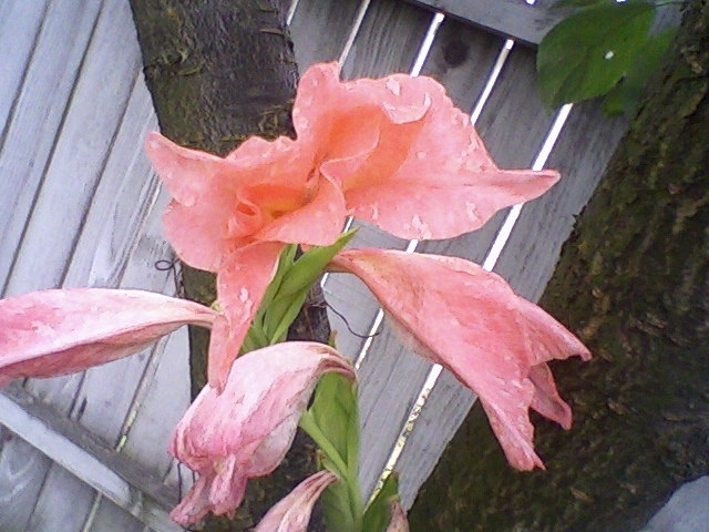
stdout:
<svg viewBox="0 0 709 532">
<path fill-rule="evenodd" d="M 0 393 L 0 423 L 142 522 L 179 530 L 166 513 L 177 500 L 174 491 L 21 388 Z"/>
</svg>

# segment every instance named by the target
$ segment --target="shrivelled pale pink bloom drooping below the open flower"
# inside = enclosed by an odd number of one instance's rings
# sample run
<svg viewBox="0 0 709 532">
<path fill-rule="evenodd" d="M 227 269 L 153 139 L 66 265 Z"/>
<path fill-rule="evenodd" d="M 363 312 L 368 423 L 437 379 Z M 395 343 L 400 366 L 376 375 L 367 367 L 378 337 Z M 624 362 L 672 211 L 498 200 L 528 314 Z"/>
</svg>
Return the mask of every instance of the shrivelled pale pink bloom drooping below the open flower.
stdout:
<svg viewBox="0 0 709 532">
<path fill-rule="evenodd" d="M 275 470 L 298 420 L 328 371 L 354 378 L 350 362 L 323 344 L 288 341 L 234 361 L 224 391 L 207 385 L 177 424 L 169 452 L 199 479 L 171 516 L 187 526 L 234 514 L 250 477 Z"/>
</svg>

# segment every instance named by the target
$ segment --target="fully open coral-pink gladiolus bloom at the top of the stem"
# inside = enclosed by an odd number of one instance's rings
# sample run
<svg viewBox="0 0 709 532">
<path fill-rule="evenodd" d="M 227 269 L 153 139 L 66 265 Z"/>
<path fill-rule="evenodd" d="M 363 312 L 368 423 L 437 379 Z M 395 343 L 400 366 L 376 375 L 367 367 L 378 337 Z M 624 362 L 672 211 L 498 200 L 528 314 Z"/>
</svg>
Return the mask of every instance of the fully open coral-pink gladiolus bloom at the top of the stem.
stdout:
<svg viewBox="0 0 709 532">
<path fill-rule="evenodd" d="M 499 170 L 469 117 L 430 78 L 341 82 L 336 63 L 302 76 L 297 140 L 253 137 L 226 157 L 158 133 L 146 149 L 173 196 L 167 238 L 187 264 L 217 273 L 224 318 L 209 382 L 222 388 L 284 243 L 332 244 L 346 215 L 402 238 L 449 238 L 534 198 L 554 171 Z"/>
</svg>

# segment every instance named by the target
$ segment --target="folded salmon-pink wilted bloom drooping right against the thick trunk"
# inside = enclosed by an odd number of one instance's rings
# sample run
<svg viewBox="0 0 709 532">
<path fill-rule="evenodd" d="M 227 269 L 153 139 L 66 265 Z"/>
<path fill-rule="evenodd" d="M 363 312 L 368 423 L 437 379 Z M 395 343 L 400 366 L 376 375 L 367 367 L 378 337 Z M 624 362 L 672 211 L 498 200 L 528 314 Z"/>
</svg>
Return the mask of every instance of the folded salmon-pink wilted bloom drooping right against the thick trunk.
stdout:
<svg viewBox="0 0 709 532">
<path fill-rule="evenodd" d="M 543 468 L 528 408 L 568 429 L 547 361 L 588 349 L 500 276 L 454 257 L 350 249 L 331 263 L 361 278 L 411 350 L 451 370 L 474 390 L 510 463 Z"/>
</svg>

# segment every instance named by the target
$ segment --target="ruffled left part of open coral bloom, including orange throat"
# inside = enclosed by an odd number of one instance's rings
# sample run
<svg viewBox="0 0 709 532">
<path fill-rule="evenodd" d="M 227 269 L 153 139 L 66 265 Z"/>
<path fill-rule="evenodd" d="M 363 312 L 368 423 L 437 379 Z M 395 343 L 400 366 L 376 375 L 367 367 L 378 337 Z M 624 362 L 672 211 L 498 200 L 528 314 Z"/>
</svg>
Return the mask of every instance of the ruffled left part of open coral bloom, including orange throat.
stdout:
<svg viewBox="0 0 709 532">
<path fill-rule="evenodd" d="M 331 227 L 339 229 L 345 217 L 343 200 L 331 184 L 312 178 L 312 149 L 285 136 L 251 137 L 218 157 L 152 133 L 146 151 L 174 197 L 164 224 L 177 255 L 216 272 L 233 250 L 257 241 L 331 244 Z"/>
</svg>

